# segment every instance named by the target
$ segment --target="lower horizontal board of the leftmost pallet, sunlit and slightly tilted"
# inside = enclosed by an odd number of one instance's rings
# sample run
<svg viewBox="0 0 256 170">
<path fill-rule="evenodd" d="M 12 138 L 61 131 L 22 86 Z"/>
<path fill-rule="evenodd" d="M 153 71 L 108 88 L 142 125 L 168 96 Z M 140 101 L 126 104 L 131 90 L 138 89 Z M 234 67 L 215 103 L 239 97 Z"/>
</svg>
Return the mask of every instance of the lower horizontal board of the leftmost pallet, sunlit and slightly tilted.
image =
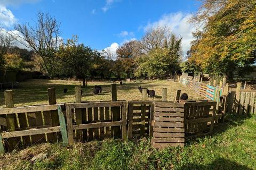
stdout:
<svg viewBox="0 0 256 170">
<path fill-rule="evenodd" d="M 14 132 L 4 132 L 2 133 L 2 138 L 13 138 L 13 137 L 23 137 L 26 135 L 36 135 L 44 133 L 60 132 L 60 126 L 52 128 L 43 128 L 43 129 L 29 129 L 25 131 L 14 131 Z"/>
</svg>

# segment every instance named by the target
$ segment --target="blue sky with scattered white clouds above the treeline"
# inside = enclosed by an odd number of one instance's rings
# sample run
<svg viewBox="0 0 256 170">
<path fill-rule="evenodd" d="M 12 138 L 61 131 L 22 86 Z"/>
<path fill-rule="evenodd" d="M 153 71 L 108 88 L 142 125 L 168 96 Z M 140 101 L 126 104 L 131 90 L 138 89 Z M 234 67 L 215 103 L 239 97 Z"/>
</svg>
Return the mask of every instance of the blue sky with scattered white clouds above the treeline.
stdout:
<svg viewBox="0 0 256 170">
<path fill-rule="evenodd" d="M 93 49 L 115 49 L 125 41 L 139 40 L 154 25 L 167 25 L 183 37 L 184 53 L 193 39 L 187 23 L 198 8 L 194 0 L 0 0 L 0 24 L 12 30 L 15 22 L 33 23 L 38 11 L 61 22 L 61 37 L 79 37 Z"/>
</svg>

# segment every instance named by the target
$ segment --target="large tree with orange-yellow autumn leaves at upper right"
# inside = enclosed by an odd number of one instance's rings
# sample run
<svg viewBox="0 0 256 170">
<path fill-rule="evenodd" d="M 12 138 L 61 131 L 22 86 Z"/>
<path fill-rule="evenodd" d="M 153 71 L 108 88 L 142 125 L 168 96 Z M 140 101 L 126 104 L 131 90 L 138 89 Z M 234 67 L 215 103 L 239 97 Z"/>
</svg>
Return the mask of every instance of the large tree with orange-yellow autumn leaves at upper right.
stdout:
<svg viewBox="0 0 256 170">
<path fill-rule="evenodd" d="M 231 79 L 234 71 L 250 69 L 254 64 L 255 0 L 202 1 L 192 21 L 205 24 L 203 31 L 194 34 L 196 40 L 192 42 L 189 58 L 204 72 Z"/>
</svg>

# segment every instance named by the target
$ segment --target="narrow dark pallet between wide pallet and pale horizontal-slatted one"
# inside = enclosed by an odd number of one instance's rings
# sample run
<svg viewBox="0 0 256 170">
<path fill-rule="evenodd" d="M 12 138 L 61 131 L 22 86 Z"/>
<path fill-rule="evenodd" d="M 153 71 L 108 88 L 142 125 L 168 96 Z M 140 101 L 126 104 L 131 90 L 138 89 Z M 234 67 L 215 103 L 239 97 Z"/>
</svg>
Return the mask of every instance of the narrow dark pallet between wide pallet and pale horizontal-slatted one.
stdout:
<svg viewBox="0 0 256 170">
<path fill-rule="evenodd" d="M 128 101 L 128 138 L 151 137 L 150 115 L 153 113 L 152 101 Z"/>
</svg>

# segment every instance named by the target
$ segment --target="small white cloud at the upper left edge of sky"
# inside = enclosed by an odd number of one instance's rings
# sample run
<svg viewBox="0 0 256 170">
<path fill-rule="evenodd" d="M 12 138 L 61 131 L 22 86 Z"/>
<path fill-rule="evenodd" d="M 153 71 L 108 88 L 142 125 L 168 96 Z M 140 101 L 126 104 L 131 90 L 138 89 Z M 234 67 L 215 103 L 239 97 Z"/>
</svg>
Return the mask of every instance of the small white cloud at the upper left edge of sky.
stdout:
<svg viewBox="0 0 256 170">
<path fill-rule="evenodd" d="M 15 21 L 12 11 L 0 4 L 0 25 L 10 27 Z"/>
</svg>

